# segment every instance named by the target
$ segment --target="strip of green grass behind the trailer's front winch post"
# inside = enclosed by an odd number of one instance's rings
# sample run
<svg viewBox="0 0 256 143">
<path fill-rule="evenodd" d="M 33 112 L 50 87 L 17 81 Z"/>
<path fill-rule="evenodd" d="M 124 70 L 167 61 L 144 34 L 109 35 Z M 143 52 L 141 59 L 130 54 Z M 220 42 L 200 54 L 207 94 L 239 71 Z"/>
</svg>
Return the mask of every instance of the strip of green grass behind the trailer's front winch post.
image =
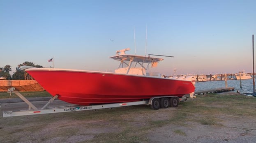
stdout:
<svg viewBox="0 0 256 143">
<path fill-rule="evenodd" d="M 25 97 L 51 97 L 51 94 L 49 94 L 46 91 L 43 92 L 20 92 Z M 10 96 L 10 93 L 7 92 L 0 92 L 0 99 L 4 98 L 19 98 L 15 93 L 12 93 Z"/>
</svg>

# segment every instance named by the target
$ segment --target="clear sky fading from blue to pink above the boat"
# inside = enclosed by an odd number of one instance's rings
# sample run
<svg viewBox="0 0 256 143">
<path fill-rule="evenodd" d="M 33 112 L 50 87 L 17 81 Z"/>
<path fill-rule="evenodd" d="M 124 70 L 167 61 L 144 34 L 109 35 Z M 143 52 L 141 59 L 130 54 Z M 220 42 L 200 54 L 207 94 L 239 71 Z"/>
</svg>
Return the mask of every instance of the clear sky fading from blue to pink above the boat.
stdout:
<svg viewBox="0 0 256 143">
<path fill-rule="evenodd" d="M 114 71 L 119 62 L 109 57 L 129 47 L 126 54 L 174 56 L 158 64 L 166 75 L 251 73 L 255 7 L 256 0 L 0 0 L 0 67 Z"/>
</svg>

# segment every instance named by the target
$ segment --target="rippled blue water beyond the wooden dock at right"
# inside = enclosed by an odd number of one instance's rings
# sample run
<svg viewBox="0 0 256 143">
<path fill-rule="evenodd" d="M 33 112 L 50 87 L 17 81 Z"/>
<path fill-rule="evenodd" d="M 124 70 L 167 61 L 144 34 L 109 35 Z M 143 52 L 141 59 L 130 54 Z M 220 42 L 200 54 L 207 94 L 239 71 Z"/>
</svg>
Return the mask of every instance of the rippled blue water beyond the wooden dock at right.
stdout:
<svg viewBox="0 0 256 143">
<path fill-rule="evenodd" d="M 253 79 L 241 80 L 242 88 L 240 88 L 240 80 L 227 80 L 228 87 L 234 87 L 235 91 L 240 93 L 253 93 Z M 196 82 L 195 92 L 200 90 L 214 89 L 225 87 L 225 80 Z"/>
</svg>

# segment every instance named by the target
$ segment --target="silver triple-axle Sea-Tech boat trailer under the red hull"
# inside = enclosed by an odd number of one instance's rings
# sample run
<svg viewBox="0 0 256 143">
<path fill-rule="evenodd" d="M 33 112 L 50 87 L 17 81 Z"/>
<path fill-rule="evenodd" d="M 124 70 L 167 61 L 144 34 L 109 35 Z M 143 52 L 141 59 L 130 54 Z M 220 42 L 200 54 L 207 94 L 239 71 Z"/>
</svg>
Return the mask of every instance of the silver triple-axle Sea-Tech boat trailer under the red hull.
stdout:
<svg viewBox="0 0 256 143">
<path fill-rule="evenodd" d="M 159 109 L 160 107 L 168 108 L 169 106 L 178 107 L 178 103 L 180 101 L 187 100 L 186 96 L 183 96 L 182 98 L 178 98 L 177 96 L 155 96 L 150 98 L 150 100 L 136 101 L 136 102 L 112 103 L 112 104 L 90 105 L 90 106 L 74 105 L 74 106 L 68 106 L 68 107 L 46 108 L 50 103 L 52 103 L 56 98 L 58 98 L 58 95 L 55 95 L 48 101 L 48 103 L 46 103 L 46 105 L 44 105 L 44 107 L 42 107 L 41 109 L 37 109 L 37 107 L 35 107 L 23 95 L 21 95 L 19 92 L 14 90 L 15 89 L 12 87 L 11 89 L 8 89 L 8 92 L 10 92 L 10 94 L 14 92 L 25 103 L 27 103 L 28 110 L 3 112 L 2 117 L 96 110 L 96 109 L 105 109 L 105 108 L 113 108 L 113 107 L 125 107 L 125 106 L 132 106 L 132 105 L 150 105 L 152 109 Z M 1 109 L 1 105 L 0 105 L 0 109 Z"/>
</svg>

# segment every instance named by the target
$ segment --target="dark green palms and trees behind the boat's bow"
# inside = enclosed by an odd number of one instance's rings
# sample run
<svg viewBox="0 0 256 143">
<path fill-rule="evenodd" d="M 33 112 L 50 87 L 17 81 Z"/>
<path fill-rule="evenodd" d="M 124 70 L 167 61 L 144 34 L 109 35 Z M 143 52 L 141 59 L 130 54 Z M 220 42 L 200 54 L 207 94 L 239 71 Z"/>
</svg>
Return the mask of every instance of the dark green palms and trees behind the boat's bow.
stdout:
<svg viewBox="0 0 256 143">
<path fill-rule="evenodd" d="M 19 64 L 18 67 L 27 65 L 32 67 L 43 67 L 42 65 L 35 65 L 32 62 L 25 61 L 22 64 Z M 10 65 L 5 65 L 5 67 L 0 67 L 0 77 L 5 78 L 6 80 L 32 80 L 32 76 L 30 76 L 26 71 L 16 71 L 12 75 L 10 74 L 12 68 Z"/>
</svg>

